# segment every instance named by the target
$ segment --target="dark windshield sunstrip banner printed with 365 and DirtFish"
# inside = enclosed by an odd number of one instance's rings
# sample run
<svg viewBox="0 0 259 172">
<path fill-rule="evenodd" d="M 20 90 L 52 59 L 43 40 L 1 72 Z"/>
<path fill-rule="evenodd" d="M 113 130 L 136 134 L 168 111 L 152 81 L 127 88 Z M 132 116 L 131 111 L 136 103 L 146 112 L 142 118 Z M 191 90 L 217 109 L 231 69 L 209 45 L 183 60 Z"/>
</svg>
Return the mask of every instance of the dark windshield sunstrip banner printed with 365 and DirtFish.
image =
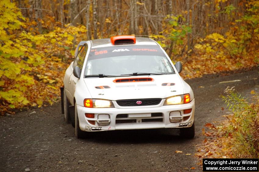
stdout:
<svg viewBox="0 0 259 172">
<path fill-rule="evenodd" d="M 164 52 L 157 45 L 126 45 L 126 46 L 112 46 L 112 47 L 101 47 L 92 48 L 88 59 L 98 59 L 116 56 L 127 56 L 127 55 L 152 55 L 152 56 L 163 56 Z"/>
</svg>

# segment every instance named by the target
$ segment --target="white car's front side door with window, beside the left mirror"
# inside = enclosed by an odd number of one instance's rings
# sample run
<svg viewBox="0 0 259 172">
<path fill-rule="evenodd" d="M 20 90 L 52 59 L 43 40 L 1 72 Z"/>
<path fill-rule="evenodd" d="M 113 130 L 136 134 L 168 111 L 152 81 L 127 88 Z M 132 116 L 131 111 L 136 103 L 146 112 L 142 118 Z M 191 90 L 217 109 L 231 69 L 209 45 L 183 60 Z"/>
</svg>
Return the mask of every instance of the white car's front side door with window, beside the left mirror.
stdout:
<svg viewBox="0 0 259 172">
<path fill-rule="evenodd" d="M 79 51 L 79 53 L 77 54 L 77 57 L 72 65 L 72 67 L 74 68 L 75 66 L 78 66 L 81 70 L 83 69 L 83 63 L 84 63 L 84 59 L 87 53 L 87 44 L 85 44 Z M 84 72 L 84 71 L 82 71 Z M 69 77 L 69 92 L 72 96 L 72 100 L 70 101 L 71 103 L 73 103 L 73 99 L 74 99 L 74 94 L 75 94 L 75 90 L 76 90 L 76 83 L 78 82 L 78 78 L 76 78 L 72 74 Z"/>
</svg>

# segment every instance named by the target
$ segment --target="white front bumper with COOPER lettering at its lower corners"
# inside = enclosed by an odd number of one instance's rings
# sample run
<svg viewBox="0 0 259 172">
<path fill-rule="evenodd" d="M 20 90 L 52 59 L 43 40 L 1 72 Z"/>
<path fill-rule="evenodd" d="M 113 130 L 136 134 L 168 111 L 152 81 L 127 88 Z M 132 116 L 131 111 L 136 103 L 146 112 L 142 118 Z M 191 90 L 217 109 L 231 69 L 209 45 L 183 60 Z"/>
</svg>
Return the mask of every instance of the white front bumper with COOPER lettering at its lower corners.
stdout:
<svg viewBox="0 0 259 172">
<path fill-rule="evenodd" d="M 183 110 L 192 109 L 188 114 Z M 152 129 L 152 128 L 184 128 L 191 127 L 194 121 L 194 99 L 188 104 L 165 105 L 159 107 L 130 107 L 130 108 L 87 108 L 77 105 L 79 126 L 82 131 L 110 131 L 110 130 L 129 130 L 129 129 Z M 170 115 L 175 112 L 176 117 Z M 85 113 L 94 114 L 94 118 L 87 118 Z M 99 115 L 109 116 L 108 125 L 101 124 Z M 108 114 L 108 115 L 107 115 Z M 180 115 L 178 115 L 180 114 Z M 119 118 L 120 117 L 120 118 Z M 176 119 L 174 119 L 176 118 Z M 89 121 L 95 121 L 95 125 Z M 103 121 L 105 121 L 103 119 Z M 173 122 L 172 122 L 173 121 Z M 99 123 L 98 123 L 99 122 Z"/>
</svg>

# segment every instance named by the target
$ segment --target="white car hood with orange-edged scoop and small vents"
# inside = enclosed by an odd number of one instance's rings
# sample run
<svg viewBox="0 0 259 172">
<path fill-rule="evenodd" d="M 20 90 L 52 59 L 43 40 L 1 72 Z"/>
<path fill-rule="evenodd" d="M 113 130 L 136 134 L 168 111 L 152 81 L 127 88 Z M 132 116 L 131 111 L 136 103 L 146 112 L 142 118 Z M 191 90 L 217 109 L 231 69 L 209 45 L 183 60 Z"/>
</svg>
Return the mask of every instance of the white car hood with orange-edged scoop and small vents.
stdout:
<svg viewBox="0 0 259 172">
<path fill-rule="evenodd" d="M 152 78 L 153 81 L 142 82 L 117 82 L 115 79 Z M 96 99 L 123 100 L 123 99 L 147 99 L 166 98 L 183 94 L 182 82 L 177 74 L 172 75 L 148 75 L 113 78 L 84 78 L 84 82 L 91 97 Z M 162 86 L 163 83 L 174 83 L 173 86 Z M 97 86 L 109 86 L 110 88 L 97 89 Z"/>
</svg>

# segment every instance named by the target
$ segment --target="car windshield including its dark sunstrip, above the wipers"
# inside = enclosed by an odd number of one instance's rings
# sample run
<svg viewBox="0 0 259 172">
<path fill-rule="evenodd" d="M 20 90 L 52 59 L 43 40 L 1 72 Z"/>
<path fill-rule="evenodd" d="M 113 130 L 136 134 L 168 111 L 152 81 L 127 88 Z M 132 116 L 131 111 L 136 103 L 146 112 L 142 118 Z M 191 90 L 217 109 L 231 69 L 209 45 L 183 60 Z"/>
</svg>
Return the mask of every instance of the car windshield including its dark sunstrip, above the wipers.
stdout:
<svg viewBox="0 0 259 172">
<path fill-rule="evenodd" d="M 120 49 L 112 47 L 112 49 L 91 50 L 84 75 L 87 77 L 99 74 L 116 76 L 136 75 L 136 73 L 174 74 L 174 69 L 163 51 L 159 50 L 159 47 L 156 48 L 133 51 L 136 48 L 122 46 Z"/>
</svg>

